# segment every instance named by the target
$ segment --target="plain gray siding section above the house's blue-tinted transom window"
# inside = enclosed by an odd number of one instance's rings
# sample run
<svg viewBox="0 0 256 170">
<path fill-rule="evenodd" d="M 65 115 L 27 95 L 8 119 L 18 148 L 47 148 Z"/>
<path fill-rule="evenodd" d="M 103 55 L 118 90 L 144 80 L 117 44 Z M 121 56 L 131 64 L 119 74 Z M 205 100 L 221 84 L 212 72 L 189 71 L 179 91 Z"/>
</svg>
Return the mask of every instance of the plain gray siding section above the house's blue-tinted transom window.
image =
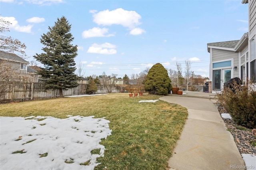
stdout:
<svg viewBox="0 0 256 170">
<path fill-rule="evenodd" d="M 223 49 L 212 49 L 212 62 L 226 59 L 238 58 L 238 53 L 234 51 L 227 51 Z M 238 63 L 238 60 L 237 60 Z"/>
</svg>

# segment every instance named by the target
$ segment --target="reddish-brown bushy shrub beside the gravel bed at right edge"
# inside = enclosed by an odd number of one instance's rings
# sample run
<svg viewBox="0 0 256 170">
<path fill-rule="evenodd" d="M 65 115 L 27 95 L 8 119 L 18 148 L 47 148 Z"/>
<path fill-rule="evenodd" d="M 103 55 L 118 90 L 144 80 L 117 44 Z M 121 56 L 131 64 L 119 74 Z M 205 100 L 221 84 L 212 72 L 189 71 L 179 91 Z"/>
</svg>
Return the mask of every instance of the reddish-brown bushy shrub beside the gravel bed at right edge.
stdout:
<svg viewBox="0 0 256 170">
<path fill-rule="evenodd" d="M 231 115 L 238 125 L 247 128 L 256 127 L 256 91 L 252 90 L 252 84 L 239 85 L 236 82 L 230 87 L 224 87 L 217 94 L 217 101 Z"/>
</svg>

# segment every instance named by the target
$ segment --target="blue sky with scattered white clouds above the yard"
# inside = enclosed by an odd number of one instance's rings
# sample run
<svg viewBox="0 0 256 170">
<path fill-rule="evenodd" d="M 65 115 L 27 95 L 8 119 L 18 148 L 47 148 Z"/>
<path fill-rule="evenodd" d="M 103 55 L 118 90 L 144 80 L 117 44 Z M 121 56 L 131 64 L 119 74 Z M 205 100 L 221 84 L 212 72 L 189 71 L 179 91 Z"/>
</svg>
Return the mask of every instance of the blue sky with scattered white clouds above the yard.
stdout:
<svg viewBox="0 0 256 170">
<path fill-rule="evenodd" d="M 185 69 L 189 59 L 195 75 L 209 77 L 207 43 L 248 32 L 242 0 L 0 0 L 0 14 L 12 22 L 6 35 L 27 46 L 27 61 L 43 52 L 48 26 L 65 16 L 85 76 L 130 77 L 155 63 Z"/>
</svg>

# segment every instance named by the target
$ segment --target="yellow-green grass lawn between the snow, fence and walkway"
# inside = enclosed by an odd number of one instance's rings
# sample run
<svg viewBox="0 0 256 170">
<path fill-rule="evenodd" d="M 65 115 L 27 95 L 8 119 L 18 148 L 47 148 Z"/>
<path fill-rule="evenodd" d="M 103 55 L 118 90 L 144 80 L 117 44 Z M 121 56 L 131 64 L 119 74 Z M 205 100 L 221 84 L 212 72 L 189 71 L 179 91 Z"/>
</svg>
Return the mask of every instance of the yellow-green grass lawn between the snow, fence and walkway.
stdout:
<svg viewBox="0 0 256 170">
<path fill-rule="evenodd" d="M 96 169 L 166 170 L 188 111 L 164 101 L 138 103 L 159 97 L 147 94 L 129 97 L 128 93 L 118 93 L 2 104 L 0 116 L 105 117 L 110 121 L 112 135 L 101 142 L 106 150 L 104 157 L 98 158 L 101 164 Z"/>
</svg>

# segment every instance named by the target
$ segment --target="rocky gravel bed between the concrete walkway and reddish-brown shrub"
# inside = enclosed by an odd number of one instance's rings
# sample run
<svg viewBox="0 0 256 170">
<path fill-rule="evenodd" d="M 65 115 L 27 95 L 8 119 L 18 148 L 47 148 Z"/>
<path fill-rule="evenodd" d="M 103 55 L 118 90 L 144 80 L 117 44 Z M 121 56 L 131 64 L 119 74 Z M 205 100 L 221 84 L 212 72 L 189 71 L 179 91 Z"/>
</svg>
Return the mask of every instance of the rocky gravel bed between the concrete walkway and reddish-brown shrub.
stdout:
<svg viewBox="0 0 256 170">
<path fill-rule="evenodd" d="M 218 107 L 219 113 L 228 113 L 222 106 Z M 256 155 L 256 146 L 252 146 L 251 141 L 256 142 L 256 136 L 252 133 L 252 129 L 237 125 L 232 119 L 224 119 L 227 130 L 234 137 L 236 146 L 240 154 Z"/>
</svg>

